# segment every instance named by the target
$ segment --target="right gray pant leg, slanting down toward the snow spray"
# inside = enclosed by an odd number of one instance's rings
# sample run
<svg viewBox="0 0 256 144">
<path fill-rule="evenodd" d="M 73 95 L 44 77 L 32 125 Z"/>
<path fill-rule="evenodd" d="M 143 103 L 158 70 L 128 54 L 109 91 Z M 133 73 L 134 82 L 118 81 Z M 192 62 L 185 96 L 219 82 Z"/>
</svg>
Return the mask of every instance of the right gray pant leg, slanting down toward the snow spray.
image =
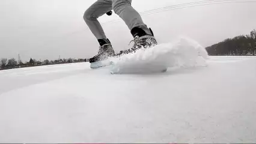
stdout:
<svg viewBox="0 0 256 144">
<path fill-rule="evenodd" d="M 150 29 L 147 28 L 139 13 L 132 7 L 132 0 L 112 0 L 112 7 L 114 12 L 124 20 L 130 30 L 138 27 L 147 34 L 151 34 Z"/>
</svg>

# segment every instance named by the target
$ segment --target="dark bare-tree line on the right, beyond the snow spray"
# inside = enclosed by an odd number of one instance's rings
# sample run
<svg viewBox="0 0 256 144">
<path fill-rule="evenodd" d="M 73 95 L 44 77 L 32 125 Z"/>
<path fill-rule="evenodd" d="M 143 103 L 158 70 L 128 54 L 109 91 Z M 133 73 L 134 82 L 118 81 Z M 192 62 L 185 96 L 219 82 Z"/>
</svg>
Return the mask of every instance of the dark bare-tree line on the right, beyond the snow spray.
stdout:
<svg viewBox="0 0 256 144">
<path fill-rule="evenodd" d="M 256 30 L 206 47 L 209 55 L 256 55 Z"/>
</svg>

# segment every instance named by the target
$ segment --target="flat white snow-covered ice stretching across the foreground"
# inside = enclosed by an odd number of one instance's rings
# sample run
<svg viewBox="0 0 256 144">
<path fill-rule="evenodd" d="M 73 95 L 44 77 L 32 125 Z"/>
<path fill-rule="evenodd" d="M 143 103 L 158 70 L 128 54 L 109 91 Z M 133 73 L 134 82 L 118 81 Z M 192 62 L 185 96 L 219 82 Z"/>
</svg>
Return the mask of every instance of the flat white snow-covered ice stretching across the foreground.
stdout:
<svg viewBox="0 0 256 144">
<path fill-rule="evenodd" d="M 1 143 L 255 143 L 256 57 L 157 74 L 87 62 L 0 71 Z"/>
</svg>

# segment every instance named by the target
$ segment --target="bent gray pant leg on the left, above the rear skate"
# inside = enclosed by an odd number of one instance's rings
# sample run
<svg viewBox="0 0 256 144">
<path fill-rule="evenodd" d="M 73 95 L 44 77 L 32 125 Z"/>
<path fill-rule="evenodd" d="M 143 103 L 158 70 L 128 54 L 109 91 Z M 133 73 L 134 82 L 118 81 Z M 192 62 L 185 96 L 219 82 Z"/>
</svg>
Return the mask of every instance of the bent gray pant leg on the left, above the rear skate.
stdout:
<svg viewBox="0 0 256 144">
<path fill-rule="evenodd" d="M 94 36 L 99 39 L 106 39 L 105 32 L 102 29 L 98 17 L 112 10 L 111 0 L 97 0 L 84 13 L 84 20 L 93 32 Z"/>
</svg>

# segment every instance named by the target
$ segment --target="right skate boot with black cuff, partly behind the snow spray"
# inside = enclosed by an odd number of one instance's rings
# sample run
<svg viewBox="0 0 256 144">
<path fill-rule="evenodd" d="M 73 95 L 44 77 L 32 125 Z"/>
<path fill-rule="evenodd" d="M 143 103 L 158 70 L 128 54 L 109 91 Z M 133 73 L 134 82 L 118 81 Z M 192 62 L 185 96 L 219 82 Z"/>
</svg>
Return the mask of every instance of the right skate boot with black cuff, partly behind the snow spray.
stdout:
<svg viewBox="0 0 256 144">
<path fill-rule="evenodd" d="M 149 47 L 156 46 L 157 41 L 156 38 L 154 38 L 153 31 L 150 29 L 151 34 L 147 34 L 143 29 L 141 28 L 133 28 L 131 30 L 131 33 L 134 37 L 134 40 L 130 41 L 130 43 L 134 43 L 133 47 L 131 49 L 123 50 L 118 53 L 118 55 L 123 55 L 127 53 L 133 53 L 136 52 L 138 49 L 148 49 Z"/>
</svg>

